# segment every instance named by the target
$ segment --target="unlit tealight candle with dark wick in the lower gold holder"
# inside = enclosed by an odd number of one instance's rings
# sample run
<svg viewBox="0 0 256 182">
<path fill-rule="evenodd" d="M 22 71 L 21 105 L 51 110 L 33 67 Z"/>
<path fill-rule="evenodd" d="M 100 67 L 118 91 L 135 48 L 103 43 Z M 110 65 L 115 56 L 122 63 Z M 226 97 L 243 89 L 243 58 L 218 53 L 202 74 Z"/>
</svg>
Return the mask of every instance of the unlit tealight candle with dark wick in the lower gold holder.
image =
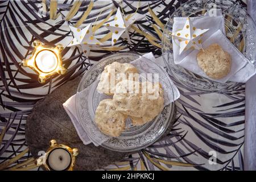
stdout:
<svg viewBox="0 0 256 182">
<path fill-rule="evenodd" d="M 64 148 L 56 148 L 49 153 L 47 162 L 52 170 L 63 171 L 71 164 L 71 154 Z"/>
</svg>

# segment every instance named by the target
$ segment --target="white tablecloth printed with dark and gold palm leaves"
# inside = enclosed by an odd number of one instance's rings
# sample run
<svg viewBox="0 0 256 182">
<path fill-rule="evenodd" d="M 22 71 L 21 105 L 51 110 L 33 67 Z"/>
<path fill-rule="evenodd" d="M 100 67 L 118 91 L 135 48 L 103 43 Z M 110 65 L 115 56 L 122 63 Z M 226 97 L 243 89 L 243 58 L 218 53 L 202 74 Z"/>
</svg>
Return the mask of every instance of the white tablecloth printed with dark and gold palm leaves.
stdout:
<svg viewBox="0 0 256 182">
<path fill-rule="evenodd" d="M 24 127 L 27 114 L 36 101 L 51 93 L 57 86 L 72 80 L 90 68 L 90 66 L 106 55 L 114 52 L 135 51 L 141 54 L 153 52 L 159 64 L 163 64 L 159 32 L 151 23 L 155 20 L 148 12 L 148 5 L 162 23 L 166 23 L 170 14 L 184 0 L 122 1 L 119 6 L 125 14 L 147 14 L 136 26 L 142 33 L 130 30 L 131 44 L 118 40 L 117 46 L 126 46 L 119 51 L 106 51 L 95 48 L 89 59 L 84 57 L 80 48 L 65 47 L 63 51 L 64 67 L 68 72 L 64 76 L 54 77 L 41 85 L 34 72 L 21 67 L 21 60 L 32 51 L 31 43 L 35 39 L 48 45 L 62 43 L 64 46 L 72 40 L 72 34 L 65 23 L 75 24 L 82 18 L 89 1 L 79 3 L 74 9 L 73 1 L 58 1 L 57 20 L 49 19 L 50 12 L 43 11 L 46 4 L 39 1 L 0 1 L 0 163 L 17 158 L 14 164 L 30 159 L 24 138 Z M 246 8 L 243 1 L 237 0 Z M 76 5 L 77 6 L 77 5 Z M 95 1 L 93 9 L 84 20 L 82 27 L 105 19 L 117 1 Z M 75 11 L 75 13 L 74 13 Z M 114 10 L 115 14 L 116 9 Z M 100 15 L 99 15 L 100 14 Z M 64 17 L 64 18 L 63 18 Z M 109 20 L 112 20 L 113 16 Z M 96 22 L 97 21 L 97 22 Z M 160 33 L 161 28 L 159 27 Z M 108 30 L 101 27 L 97 30 L 97 38 L 102 38 Z M 144 35 L 143 35 L 144 34 Z M 156 44 L 148 42 L 148 34 L 156 38 Z M 146 37 L 145 37 L 146 36 Z M 164 65 L 163 65 L 164 66 Z M 222 92 L 199 92 L 181 85 L 172 78 L 180 90 L 181 97 L 176 101 L 177 120 L 171 133 L 150 147 L 127 156 L 121 162 L 111 164 L 102 169 L 132 170 L 243 170 L 243 146 L 245 135 L 245 84 Z M 17 157 L 18 156 L 18 157 Z M 216 158 L 215 158 L 216 157 Z M 32 159 L 31 159 L 32 161 Z M 32 162 L 24 169 L 34 169 Z M 1 169 L 0 164 L 0 169 Z"/>
</svg>

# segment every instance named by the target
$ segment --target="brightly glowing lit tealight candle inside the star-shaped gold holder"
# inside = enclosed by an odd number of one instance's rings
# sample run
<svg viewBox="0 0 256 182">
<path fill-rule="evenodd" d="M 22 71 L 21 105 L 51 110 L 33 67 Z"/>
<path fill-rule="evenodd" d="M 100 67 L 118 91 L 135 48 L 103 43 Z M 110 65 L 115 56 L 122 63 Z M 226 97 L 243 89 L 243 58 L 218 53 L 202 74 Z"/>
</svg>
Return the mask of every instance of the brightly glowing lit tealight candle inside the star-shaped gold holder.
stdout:
<svg viewBox="0 0 256 182">
<path fill-rule="evenodd" d="M 38 69 L 44 73 L 52 72 L 58 65 L 57 56 L 52 51 L 43 50 L 35 57 L 35 63 Z"/>
</svg>

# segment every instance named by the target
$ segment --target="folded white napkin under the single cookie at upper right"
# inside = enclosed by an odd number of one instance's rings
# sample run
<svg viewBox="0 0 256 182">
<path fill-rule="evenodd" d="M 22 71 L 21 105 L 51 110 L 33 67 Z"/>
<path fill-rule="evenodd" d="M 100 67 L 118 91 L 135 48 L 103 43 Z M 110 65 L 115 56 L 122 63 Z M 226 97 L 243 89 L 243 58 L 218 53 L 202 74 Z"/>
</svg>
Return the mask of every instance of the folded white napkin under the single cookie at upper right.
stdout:
<svg viewBox="0 0 256 182">
<path fill-rule="evenodd" d="M 214 11 L 215 16 L 212 16 L 212 11 Z M 173 31 L 175 32 L 180 28 L 183 28 L 185 20 L 185 17 L 174 18 Z M 229 41 L 228 38 L 226 38 L 225 22 L 221 10 L 210 10 L 205 13 L 204 16 L 191 18 L 191 20 L 195 27 L 209 28 L 209 31 L 202 37 L 204 48 L 207 48 L 213 43 L 217 43 L 232 57 L 230 73 L 218 80 L 208 77 L 197 64 L 196 55 L 199 51 L 197 49 L 189 49 L 179 55 L 179 46 L 174 43 L 174 38 L 172 38 L 175 64 L 180 65 L 197 75 L 208 78 L 209 80 L 221 83 L 225 83 L 226 81 L 246 82 L 251 76 L 255 75 L 256 71 L 254 65 L 246 59 L 246 57 Z"/>
</svg>

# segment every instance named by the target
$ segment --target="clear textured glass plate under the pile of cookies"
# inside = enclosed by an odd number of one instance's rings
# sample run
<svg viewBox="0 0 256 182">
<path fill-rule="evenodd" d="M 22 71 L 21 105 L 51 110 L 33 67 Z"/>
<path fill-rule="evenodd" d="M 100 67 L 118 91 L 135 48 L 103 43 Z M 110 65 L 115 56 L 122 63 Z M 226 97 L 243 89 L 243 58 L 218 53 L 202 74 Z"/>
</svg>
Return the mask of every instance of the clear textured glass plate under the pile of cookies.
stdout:
<svg viewBox="0 0 256 182">
<path fill-rule="evenodd" d="M 87 86 L 96 81 L 98 75 L 104 71 L 104 67 L 108 64 L 118 61 L 119 63 L 130 63 L 140 57 L 135 53 L 115 53 L 112 56 L 101 59 L 98 63 L 94 64 L 89 71 L 87 71 L 82 77 L 80 84 L 77 88 L 77 92 L 81 92 Z M 162 68 L 161 68 L 162 69 Z M 167 75 L 168 76 L 168 75 Z M 78 94 L 76 100 L 77 115 L 79 120 L 88 121 L 90 129 L 93 127 L 94 131 L 89 131 L 88 135 L 91 139 L 97 137 L 97 133 L 100 130 L 97 129 L 96 123 L 93 118 L 90 117 L 89 112 L 96 111 L 97 105 L 100 100 L 100 94 L 96 90 L 97 85 L 93 86 L 92 96 L 84 96 L 84 94 Z M 92 100 L 92 104 L 88 105 L 87 100 Z M 90 102 L 90 101 L 89 101 Z M 142 126 L 129 126 L 119 137 L 113 137 L 102 143 L 101 146 L 114 151 L 136 151 L 141 148 L 147 147 L 150 144 L 156 142 L 161 135 L 170 127 L 172 117 L 174 115 L 174 103 L 164 107 L 162 113 L 160 113 L 153 121 L 146 123 Z M 86 127 L 86 126 L 85 126 Z M 88 131 L 89 127 L 86 127 Z M 95 141 L 94 141 L 95 142 Z"/>
</svg>

